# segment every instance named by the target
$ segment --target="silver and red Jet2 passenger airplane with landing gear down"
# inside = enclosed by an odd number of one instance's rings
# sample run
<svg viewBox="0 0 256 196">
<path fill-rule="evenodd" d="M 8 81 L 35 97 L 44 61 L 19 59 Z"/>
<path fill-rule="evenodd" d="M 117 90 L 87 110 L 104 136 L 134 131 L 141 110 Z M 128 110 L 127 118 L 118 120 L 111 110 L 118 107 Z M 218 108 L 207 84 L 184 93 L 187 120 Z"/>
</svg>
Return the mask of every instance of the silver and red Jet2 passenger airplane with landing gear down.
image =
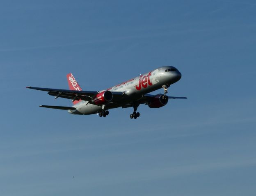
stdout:
<svg viewBox="0 0 256 196">
<path fill-rule="evenodd" d="M 83 91 L 72 73 L 67 74 L 66 77 L 69 90 L 41 87 L 26 88 L 48 91 L 48 94 L 55 96 L 55 99 L 67 98 L 71 99 L 73 103 L 72 107 L 53 105 L 40 105 L 39 107 L 68 110 L 70 114 L 98 114 L 100 117 L 106 117 L 109 114 L 109 109 L 133 107 L 130 118 L 136 119 L 140 116 L 137 108 L 141 104 L 148 105 L 150 108 L 159 108 L 165 106 L 169 99 L 187 99 L 186 97 L 166 95 L 167 88 L 181 79 L 181 72 L 172 66 L 159 67 L 102 91 Z M 164 89 L 164 94 L 148 94 L 161 88 Z"/>
</svg>

